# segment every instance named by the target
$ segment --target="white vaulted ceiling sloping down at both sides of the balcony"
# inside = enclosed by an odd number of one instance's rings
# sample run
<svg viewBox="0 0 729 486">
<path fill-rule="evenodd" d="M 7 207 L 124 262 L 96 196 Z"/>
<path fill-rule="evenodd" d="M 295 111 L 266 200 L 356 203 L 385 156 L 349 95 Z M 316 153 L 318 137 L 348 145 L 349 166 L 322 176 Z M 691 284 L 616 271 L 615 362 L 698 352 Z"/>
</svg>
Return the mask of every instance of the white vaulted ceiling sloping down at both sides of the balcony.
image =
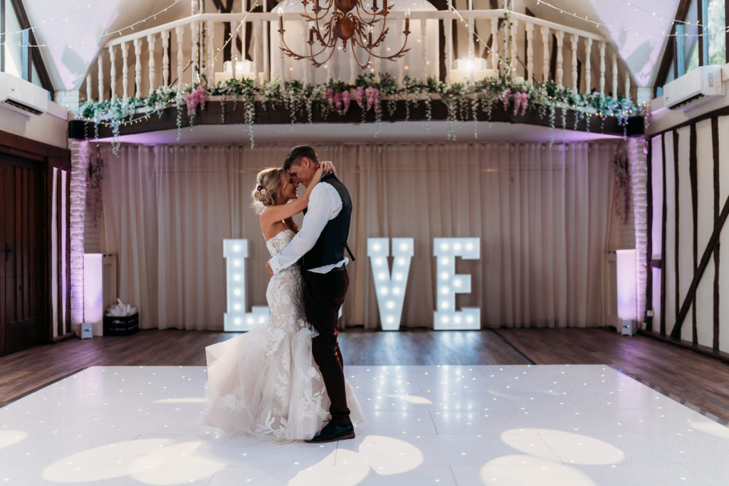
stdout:
<svg viewBox="0 0 729 486">
<path fill-rule="evenodd" d="M 131 30 L 106 33 L 145 19 L 135 26 L 136 30 L 185 17 L 190 15 L 190 3 L 190 0 L 23 0 L 31 25 L 37 26 L 36 40 L 48 44 L 42 52 L 56 90 L 78 89 L 104 43 L 113 36 L 130 34 Z M 631 69 L 637 85 L 650 86 L 655 82 L 657 64 L 666 45 L 662 33 L 670 29 L 678 3 L 679 0 L 515 0 L 513 8 L 524 12 L 528 7 L 537 17 L 606 36 Z M 211 5 L 211 1 L 206 5 Z M 475 0 L 473 7 L 488 8 L 488 1 Z"/>
</svg>

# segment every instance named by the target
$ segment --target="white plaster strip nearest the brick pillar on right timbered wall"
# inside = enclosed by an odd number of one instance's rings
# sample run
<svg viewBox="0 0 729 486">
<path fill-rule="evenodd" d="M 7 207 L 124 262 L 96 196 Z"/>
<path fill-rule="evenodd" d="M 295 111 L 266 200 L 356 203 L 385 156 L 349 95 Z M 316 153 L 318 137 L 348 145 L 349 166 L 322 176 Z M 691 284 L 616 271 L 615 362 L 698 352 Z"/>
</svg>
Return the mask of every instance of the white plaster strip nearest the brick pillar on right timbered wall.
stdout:
<svg viewBox="0 0 729 486">
<path fill-rule="evenodd" d="M 661 259 L 665 256 L 660 254 L 662 244 L 662 227 L 663 227 L 663 146 L 661 145 L 662 136 L 656 136 L 651 139 L 651 187 L 653 195 L 653 207 L 652 207 L 652 218 L 653 224 L 651 227 L 652 235 L 652 259 Z M 653 294 L 650 296 L 653 303 L 653 330 L 660 330 L 660 268 L 652 269 L 652 289 Z M 649 297 L 647 297 L 649 298 Z"/>
</svg>

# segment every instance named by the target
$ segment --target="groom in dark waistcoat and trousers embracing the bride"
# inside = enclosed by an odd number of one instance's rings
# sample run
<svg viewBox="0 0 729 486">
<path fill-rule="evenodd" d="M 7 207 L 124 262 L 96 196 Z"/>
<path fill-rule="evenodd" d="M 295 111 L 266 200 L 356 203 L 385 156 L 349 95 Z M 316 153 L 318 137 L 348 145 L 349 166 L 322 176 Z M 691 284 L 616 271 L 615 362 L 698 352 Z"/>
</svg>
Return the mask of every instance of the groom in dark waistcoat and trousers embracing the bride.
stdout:
<svg viewBox="0 0 729 486">
<path fill-rule="evenodd" d="M 284 162 L 284 169 L 289 171 L 294 184 L 306 187 L 317 168 L 319 158 L 307 145 L 295 146 Z M 344 250 L 349 251 L 347 236 L 352 201 L 347 188 L 334 174 L 322 176 L 321 182 L 324 184 L 317 184 L 309 195 L 300 232 L 266 263 L 268 275 L 273 276 L 301 261 L 306 320 L 319 332 L 311 341 L 311 353 L 332 401 L 329 409 L 332 420 L 307 441 L 314 443 L 354 438 L 344 388 L 342 352 L 337 342 L 339 308 L 349 286 L 346 268 L 349 260 Z"/>
</svg>

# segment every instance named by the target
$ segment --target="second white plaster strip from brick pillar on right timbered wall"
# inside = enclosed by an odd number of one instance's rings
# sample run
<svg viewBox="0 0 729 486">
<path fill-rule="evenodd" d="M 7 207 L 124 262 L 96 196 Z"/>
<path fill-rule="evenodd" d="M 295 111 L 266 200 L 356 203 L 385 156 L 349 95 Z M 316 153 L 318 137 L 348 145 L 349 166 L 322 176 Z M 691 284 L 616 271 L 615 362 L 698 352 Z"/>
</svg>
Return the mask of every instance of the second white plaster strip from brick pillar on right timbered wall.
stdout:
<svg viewBox="0 0 729 486">
<path fill-rule="evenodd" d="M 663 255 L 666 272 L 666 332 L 670 334 L 676 322 L 676 179 L 674 176 L 674 133 L 667 132 L 666 149 L 666 254 Z"/>
</svg>

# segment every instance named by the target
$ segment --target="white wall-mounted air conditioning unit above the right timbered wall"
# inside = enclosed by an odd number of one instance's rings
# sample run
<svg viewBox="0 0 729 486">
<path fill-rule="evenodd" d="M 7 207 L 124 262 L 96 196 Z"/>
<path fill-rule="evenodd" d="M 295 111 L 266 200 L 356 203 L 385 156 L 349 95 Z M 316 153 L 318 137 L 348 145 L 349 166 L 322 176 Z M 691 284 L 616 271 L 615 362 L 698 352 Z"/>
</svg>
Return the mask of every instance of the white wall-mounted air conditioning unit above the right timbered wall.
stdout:
<svg viewBox="0 0 729 486">
<path fill-rule="evenodd" d="M 722 66 L 701 66 L 663 86 L 663 104 L 671 110 L 689 110 L 724 95 Z"/>
</svg>

